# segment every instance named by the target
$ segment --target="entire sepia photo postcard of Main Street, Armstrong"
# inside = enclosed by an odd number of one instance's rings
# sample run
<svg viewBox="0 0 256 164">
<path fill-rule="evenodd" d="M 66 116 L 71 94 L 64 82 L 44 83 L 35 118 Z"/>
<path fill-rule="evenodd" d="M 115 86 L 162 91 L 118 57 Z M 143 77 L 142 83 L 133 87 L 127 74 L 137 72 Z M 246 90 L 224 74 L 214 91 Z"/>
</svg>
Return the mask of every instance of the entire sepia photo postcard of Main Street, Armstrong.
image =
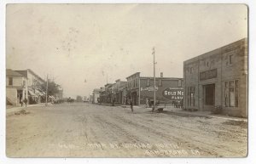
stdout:
<svg viewBox="0 0 256 164">
<path fill-rule="evenodd" d="M 247 157 L 248 8 L 8 3 L 7 157 Z"/>
</svg>

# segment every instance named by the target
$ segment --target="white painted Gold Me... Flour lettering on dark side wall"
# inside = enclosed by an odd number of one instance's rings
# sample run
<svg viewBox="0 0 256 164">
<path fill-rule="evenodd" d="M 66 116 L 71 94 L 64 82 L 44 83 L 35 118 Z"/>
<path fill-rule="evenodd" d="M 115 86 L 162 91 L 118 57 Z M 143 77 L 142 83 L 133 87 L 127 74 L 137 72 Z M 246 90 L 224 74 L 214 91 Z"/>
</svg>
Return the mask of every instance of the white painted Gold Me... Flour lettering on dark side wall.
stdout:
<svg viewBox="0 0 256 164">
<path fill-rule="evenodd" d="M 162 95 L 169 100 L 181 100 L 183 99 L 183 88 L 166 88 Z"/>
</svg>

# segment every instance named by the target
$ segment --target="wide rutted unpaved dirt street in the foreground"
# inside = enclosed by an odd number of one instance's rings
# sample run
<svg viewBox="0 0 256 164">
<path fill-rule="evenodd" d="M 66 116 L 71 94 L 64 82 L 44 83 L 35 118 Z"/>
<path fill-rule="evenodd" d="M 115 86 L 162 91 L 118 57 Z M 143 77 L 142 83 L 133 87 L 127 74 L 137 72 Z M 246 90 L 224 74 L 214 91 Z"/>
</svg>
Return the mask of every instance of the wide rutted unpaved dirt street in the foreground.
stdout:
<svg viewBox="0 0 256 164">
<path fill-rule="evenodd" d="M 242 157 L 247 123 L 85 103 L 7 116 L 9 157 Z"/>
</svg>

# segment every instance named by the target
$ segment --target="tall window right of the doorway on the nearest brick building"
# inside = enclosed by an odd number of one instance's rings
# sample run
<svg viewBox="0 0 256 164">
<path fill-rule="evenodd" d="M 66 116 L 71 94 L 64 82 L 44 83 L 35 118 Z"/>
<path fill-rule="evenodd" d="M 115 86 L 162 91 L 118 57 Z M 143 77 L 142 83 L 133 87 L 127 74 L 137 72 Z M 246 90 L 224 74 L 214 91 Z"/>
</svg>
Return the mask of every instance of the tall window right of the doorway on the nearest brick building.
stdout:
<svg viewBox="0 0 256 164">
<path fill-rule="evenodd" d="M 224 82 L 224 105 L 238 107 L 239 81 Z"/>
</svg>

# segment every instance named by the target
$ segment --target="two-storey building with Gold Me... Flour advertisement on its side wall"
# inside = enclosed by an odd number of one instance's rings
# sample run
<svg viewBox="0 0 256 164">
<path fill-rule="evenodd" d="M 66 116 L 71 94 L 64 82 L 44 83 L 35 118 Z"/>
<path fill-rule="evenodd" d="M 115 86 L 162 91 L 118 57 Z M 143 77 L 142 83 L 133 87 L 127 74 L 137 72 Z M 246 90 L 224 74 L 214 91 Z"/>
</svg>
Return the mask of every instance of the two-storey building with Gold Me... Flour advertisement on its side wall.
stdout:
<svg viewBox="0 0 256 164">
<path fill-rule="evenodd" d="M 154 77 L 140 76 L 137 72 L 127 79 L 127 99 L 134 105 L 145 105 L 146 99 L 154 101 Z M 183 101 L 183 78 L 155 77 L 156 101 L 160 104 L 173 104 Z"/>
</svg>

